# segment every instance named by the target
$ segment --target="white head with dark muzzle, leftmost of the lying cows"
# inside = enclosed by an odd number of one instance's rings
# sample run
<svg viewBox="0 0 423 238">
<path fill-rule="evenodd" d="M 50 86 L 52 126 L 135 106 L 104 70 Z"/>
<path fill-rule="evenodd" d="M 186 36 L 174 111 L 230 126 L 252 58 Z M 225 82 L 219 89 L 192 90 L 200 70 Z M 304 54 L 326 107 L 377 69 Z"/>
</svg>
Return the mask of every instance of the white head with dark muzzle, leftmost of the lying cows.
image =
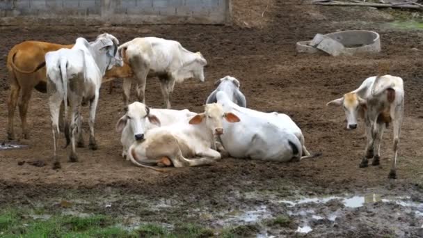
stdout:
<svg viewBox="0 0 423 238">
<path fill-rule="evenodd" d="M 142 141 L 147 129 L 157 125 L 160 127 L 160 120 L 150 113 L 150 108 L 141 102 L 133 102 L 125 107 L 125 116 L 122 116 L 116 124 L 116 131 L 122 132 L 123 128 L 131 127 L 136 141 Z"/>
</svg>

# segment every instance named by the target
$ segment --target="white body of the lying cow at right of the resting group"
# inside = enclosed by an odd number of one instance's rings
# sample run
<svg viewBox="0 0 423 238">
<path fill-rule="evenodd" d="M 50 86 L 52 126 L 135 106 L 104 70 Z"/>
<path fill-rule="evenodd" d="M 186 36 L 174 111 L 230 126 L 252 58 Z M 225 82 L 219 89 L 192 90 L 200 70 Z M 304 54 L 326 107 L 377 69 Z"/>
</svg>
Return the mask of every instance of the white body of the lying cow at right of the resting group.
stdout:
<svg viewBox="0 0 423 238">
<path fill-rule="evenodd" d="M 216 99 L 225 111 L 237 113 L 241 120 L 237 124 L 223 122 L 225 134 L 219 137 L 230 156 L 282 162 L 314 157 L 305 149 L 301 129 L 289 116 L 238 106 L 223 91 L 216 93 Z M 219 150 L 222 145 L 216 143 Z M 308 154 L 302 157 L 305 152 Z"/>
</svg>

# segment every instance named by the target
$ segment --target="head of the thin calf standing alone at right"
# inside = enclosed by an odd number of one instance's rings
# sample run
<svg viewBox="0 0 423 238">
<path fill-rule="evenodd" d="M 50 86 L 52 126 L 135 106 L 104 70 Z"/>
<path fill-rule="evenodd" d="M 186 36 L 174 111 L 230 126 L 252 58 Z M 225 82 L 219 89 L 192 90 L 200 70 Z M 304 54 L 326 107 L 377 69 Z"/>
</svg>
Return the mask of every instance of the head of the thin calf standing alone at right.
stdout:
<svg viewBox="0 0 423 238">
<path fill-rule="evenodd" d="M 341 106 L 346 116 L 346 129 L 357 128 L 357 118 L 361 110 L 367 109 L 366 101 L 357 93 L 346 93 L 343 97 L 328 102 L 326 106 Z"/>
</svg>

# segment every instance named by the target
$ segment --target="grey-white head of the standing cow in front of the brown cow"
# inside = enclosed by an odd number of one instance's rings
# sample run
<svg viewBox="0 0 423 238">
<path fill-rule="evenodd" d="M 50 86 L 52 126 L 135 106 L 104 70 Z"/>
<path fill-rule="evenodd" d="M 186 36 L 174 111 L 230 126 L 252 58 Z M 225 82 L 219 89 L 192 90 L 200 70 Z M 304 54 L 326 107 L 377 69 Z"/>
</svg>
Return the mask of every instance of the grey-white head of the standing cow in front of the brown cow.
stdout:
<svg viewBox="0 0 423 238">
<path fill-rule="evenodd" d="M 122 56 L 118 52 L 119 40 L 109 33 L 102 33 L 97 36 L 95 41 L 102 42 L 102 46 L 99 48 L 100 51 L 106 51 L 106 56 L 109 58 L 109 64 L 106 70 L 110 70 L 113 66 L 122 67 L 123 60 Z"/>
</svg>

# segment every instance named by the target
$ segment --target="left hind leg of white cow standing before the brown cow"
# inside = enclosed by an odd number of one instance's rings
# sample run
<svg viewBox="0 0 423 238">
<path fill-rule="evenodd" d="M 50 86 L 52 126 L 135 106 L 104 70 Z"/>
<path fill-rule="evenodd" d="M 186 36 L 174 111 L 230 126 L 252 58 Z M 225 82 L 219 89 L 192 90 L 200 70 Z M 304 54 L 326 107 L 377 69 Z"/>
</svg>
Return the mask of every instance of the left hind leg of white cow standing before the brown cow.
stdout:
<svg viewBox="0 0 423 238">
<path fill-rule="evenodd" d="M 51 117 L 51 132 L 53 134 L 53 169 L 61 168 L 61 163 L 58 160 L 57 156 L 57 148 L 58 148 L 58 136 L 59 136 L 59 129 L 58 129 L 58 120 L 59 120 L 59 113 L 60 107 L 62 103 L 61 95 L 56 91 L 53 94 L 49 95 L 49 109 L 50 109 L 50 117 Z"/>
</svg>

